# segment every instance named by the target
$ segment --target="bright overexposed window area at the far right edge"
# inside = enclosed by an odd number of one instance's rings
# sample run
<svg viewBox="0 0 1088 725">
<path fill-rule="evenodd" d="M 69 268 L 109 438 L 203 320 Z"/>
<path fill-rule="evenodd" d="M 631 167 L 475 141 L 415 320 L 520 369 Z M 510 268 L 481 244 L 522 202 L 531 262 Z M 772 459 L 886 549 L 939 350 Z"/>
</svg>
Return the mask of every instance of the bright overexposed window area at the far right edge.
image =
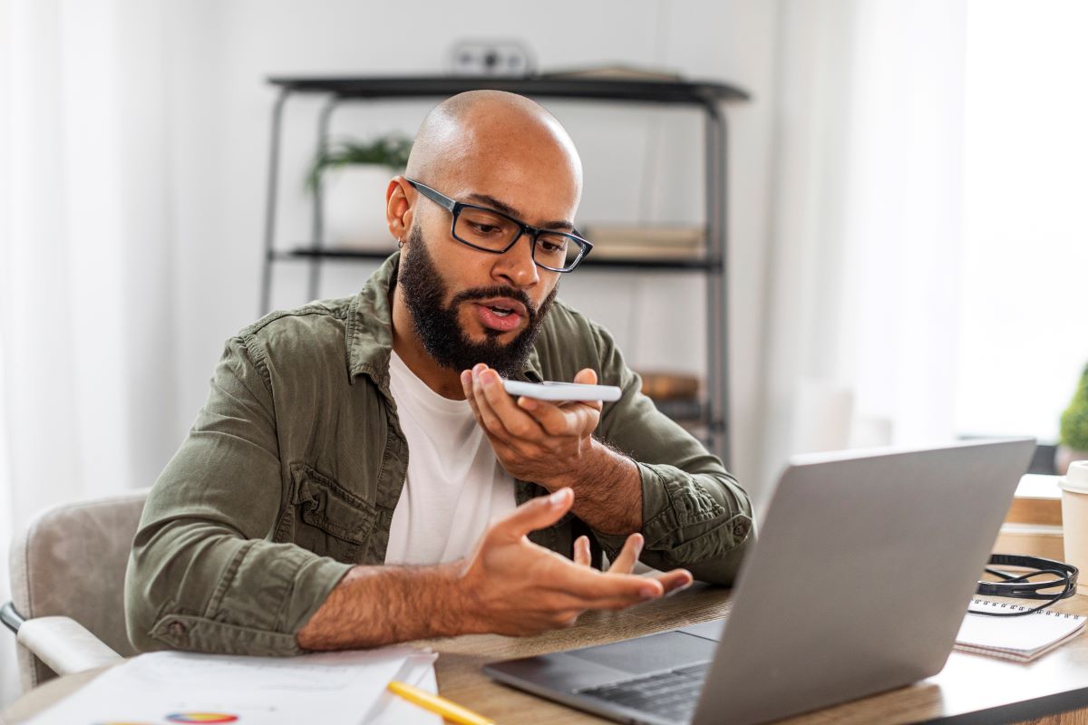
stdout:
<svg viewBox="0 0 1088 725">
<path fill-rule="evenodd" d="M 1058 438 L 1088 363 L 1088 3 L 968 5 L 956 428 Z"/>
</svg>

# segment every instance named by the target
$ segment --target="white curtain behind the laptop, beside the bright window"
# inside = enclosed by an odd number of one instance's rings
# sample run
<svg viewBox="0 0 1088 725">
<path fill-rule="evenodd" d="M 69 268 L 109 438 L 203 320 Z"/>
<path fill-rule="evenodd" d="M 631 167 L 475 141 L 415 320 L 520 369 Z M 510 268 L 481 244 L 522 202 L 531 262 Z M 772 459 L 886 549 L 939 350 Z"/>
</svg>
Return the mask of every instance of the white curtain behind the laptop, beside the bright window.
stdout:
<svg viewBox="0 0 1088 725">
<path fill-rule="evenodd" d="M 764 503 L 795 452 L 953 435 L 965 0 L 787 0 Z"/>
</svg>

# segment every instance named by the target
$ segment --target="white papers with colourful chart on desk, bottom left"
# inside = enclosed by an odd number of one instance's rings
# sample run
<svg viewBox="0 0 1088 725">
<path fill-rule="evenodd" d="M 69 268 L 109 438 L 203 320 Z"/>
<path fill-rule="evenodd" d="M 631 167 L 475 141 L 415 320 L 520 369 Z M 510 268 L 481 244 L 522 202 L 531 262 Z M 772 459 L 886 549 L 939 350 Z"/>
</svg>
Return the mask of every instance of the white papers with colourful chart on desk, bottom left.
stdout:
<svg viewBox="0 0 1088 725">
<path fill-rule="evenodd" d="M 424 679 L 430 670 L 433 677 L 434 658 L 405 647 L 295 658 L 152 652 L 109 670 L 28 725 L 359 725 L 378 714 L 398 674 Z"/>
</svg>

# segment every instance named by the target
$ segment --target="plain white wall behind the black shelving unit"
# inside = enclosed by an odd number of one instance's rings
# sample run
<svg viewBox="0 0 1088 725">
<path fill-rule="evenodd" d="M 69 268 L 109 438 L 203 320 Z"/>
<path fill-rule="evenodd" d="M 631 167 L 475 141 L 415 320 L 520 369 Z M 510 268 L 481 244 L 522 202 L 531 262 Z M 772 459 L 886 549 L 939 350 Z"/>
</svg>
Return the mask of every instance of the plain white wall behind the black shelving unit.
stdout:
<svg viewBox="0 0 1088 725">
<path fill-rule="evenodd" d="M 223 340 L 258 312 L 258 283 L 274 74 L 442 72 L 457 39 L 517 38 L 542 68 L 601 62 L 660 65 L 685 76 L 750 90 L 729 109 L 733 467 L 757 470 L 758 358 L 768 161 L 772 125 L 777 3 L 728 2 L 539 4 L 474 0 L 456 11 L 440 3 L 175 3 L 170 58 L 171 210 L 176 233 L 174 345 L 180 411 L 176 447 L 201 404 Z M 431 102 L 380 103 L 337 114 L 334 134 L 413 133 Z M 698 220 L 702 164 L 697 114 L 632 107 L 549 103 L 583 155 L 585 196 L 579 218 Z M 288 107 L 282 243 L 307 238 L 301 179 L 312 153 L 317 104 Z M 650 177 L 654 184 L 641 186 Z M 391 242 L 392 245 L 392 242 Z M 391 246 L 392 248 L 392 246 Z M 321 296 L 349 295 L 374 268 L 326 267 Z M 305 268 L 277 267 L 274 307 L 306 301 Z M 606 325 L 635 366 L 701 371 L 703 291 L 693 275 L 616 275 L 580 271 L 561 296 Z M 756 482 L 752 482 L 756 485 Z"/>
</svg>

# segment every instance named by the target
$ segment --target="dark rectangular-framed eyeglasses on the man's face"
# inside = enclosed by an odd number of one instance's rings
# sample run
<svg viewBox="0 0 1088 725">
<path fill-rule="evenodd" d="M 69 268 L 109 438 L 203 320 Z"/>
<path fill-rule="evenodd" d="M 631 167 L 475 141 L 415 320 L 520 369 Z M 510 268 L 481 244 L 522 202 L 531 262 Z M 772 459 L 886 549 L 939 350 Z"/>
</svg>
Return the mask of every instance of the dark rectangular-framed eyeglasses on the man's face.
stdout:
<svg viewBox="0 0 1088 725">
<path fill-rule="evenodd" d="M 454 239 L 472 249 L 503 254 L 509 251 L 522 235 L 528 234 L 532 240 L 533 262 L 536 266 L 552 272 L 572 271 L 593 249 L 592 243 L 578 235 L 530 226 L 494 209 L 455 201 L 425 184 L 407 177 L 405 180 L 453 215 L 450 234 L 454 235 Z"/>
</svg>

